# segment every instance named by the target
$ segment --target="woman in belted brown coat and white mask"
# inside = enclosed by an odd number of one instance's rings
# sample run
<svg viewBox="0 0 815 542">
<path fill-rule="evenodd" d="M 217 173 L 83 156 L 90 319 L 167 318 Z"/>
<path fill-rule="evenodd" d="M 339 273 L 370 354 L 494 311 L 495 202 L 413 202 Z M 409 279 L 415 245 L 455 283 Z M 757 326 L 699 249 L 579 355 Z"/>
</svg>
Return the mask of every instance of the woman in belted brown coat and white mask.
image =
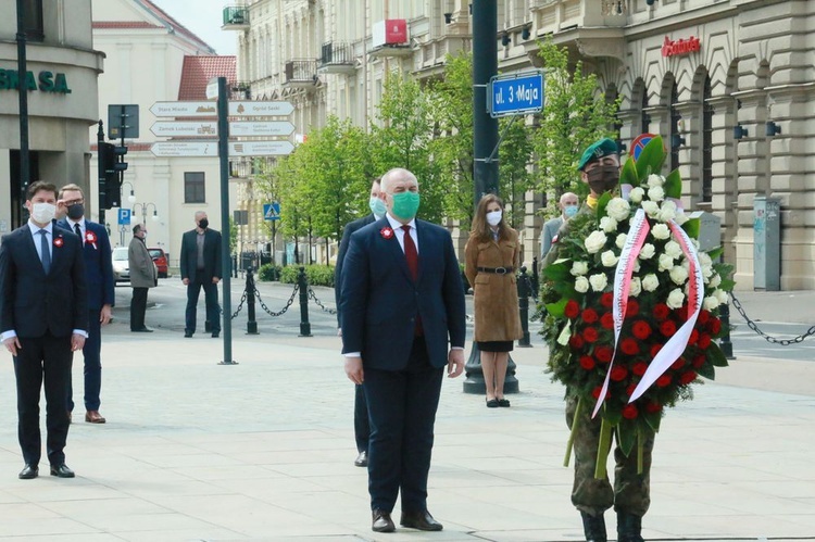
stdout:
<svg viewBox="0 0 815 542">
<path fill-rule="evenodd" d="M 518 234 L 503 218 L 503 202 L 487 194 L 478 202 L 465 249 L 464 273 L 473 285 L 475 341 L 481 352 L 487 406 L 510 406 L 504 379 L 513 341 L 521 339 L 515 272 L 521 263 Z"/>
</svg>

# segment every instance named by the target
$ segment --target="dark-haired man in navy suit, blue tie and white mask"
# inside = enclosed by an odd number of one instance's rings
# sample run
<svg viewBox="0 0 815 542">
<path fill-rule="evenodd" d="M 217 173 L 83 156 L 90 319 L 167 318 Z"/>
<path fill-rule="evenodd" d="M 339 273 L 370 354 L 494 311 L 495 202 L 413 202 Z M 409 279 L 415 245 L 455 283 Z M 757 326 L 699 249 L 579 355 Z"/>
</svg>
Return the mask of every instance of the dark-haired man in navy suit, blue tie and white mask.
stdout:
<svg viewBox="0 0 815 542">
<path fill-rule="evenodd" d="M 36 478 L 42 441 L 39 395 L 45 380 L 46 449 L 51 476 L 73 478 L 65 465 L 67 381 L 73 353 L 88 333 L 88 299 L 82 240 L 55 227 L 57 187 L 28 186 L 28 223 L 0 244 L 0 331 L 14 357 L 17 437 L 25 467 L 21 479 Z"/>
</svg>

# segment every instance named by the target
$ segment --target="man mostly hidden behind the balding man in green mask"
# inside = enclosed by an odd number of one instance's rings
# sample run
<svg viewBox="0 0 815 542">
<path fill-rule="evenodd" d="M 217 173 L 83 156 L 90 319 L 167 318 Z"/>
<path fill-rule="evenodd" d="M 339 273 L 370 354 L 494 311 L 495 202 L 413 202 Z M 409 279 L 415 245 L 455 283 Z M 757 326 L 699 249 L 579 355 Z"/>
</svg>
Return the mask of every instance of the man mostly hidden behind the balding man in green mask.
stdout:
<svg viewBox="0 0 815 542">
<path fill-rule="evenodd" d="M 342 313 L 339 310 L 340 303 L 340 286 L 342 285 L 342 261 L 348 252 L 348 243 L 351 240 L 351 234 L 367 226 L 368 224 L 381 219 L 387 211 L 385 207 L 385 200 L 381 199 L 381 177 L 374 179 L 371 185 L 371 197 L 368 198 L 368 207 L 371 214 L 358 218 L 346 225 L 346 229 L 342 231 L 342 240 L 340 241 L 339 251 L 337 252 L 337 265 L 334 268 L 334 294 L 337 301 L 337 325 L 339 327 L 338 335 L 342 336 Z M 356 440 L 356 458 L 354 465 L 358 467 L 368 466 L 368 438 L 371 437 L 371 425 L 368 424 L 368 405 L 365 402 L 365 392 L 362 390 L 362 386 L 354 386 L 354 439 Z"/>
</svg>

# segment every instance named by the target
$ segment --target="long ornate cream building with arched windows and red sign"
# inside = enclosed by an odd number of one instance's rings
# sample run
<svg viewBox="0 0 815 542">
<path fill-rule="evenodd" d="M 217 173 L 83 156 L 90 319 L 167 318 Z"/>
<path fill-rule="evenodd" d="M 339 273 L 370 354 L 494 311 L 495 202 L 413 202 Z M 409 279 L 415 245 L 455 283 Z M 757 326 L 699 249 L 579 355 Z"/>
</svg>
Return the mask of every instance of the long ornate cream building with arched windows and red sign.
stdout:
<svg viewBox="0 0 815 542">
<path fill-rule="evenodd" d="M 665 167 L 679 168 L 685 209 L 720 220 L 737 289 L 774 289 L 767 273 L 777 273 L 783 290 L 815 288 L 815 3 L 498 0 L 497 7 L 501 73 L 540 67 L 537 40 L 551 36 L 598 74 L 599 96 L 620 98 L 624 144 L 643 133 L 663 136 Z M 224 28 L 239 30 L 239 77 L 253 97 L 292 101 L 301 134 L 327 114 L 367 126 L 384 73 L 434 77 L 446 53 L 471 43 L 465 0 L 247 0 L 231 9 L 241 13 L 239 24 L 225 12 Z M 404 36 L 389 42 L 385 21 L 401 21 Z M 775 245 L 762 230 L 763 199 L 778 204 Z M 534 193 L 528 201 L 521 234 L 531 262 L 543 201 Z"/>
</svg>

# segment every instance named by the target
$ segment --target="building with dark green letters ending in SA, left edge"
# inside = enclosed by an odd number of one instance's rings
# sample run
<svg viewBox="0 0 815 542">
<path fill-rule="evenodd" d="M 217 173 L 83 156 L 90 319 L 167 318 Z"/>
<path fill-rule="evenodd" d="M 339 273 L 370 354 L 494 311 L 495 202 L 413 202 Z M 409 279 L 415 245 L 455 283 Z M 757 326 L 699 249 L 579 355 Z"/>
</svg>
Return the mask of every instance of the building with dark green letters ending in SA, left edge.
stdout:
<svg viewBox="0 0 815 542">
<path fill-rule="evenodd" d="M 21 225 L 20 88 L 27 92 L 29 181 L 88 187 L 88 126 L 98 118 L 90 0 L 26 0 L 26 72 L 17 70 L 16 5 L 0 1 L 0 234 Z M 70 9 L 68 5 L 70 4 Z"/>
</svg>

